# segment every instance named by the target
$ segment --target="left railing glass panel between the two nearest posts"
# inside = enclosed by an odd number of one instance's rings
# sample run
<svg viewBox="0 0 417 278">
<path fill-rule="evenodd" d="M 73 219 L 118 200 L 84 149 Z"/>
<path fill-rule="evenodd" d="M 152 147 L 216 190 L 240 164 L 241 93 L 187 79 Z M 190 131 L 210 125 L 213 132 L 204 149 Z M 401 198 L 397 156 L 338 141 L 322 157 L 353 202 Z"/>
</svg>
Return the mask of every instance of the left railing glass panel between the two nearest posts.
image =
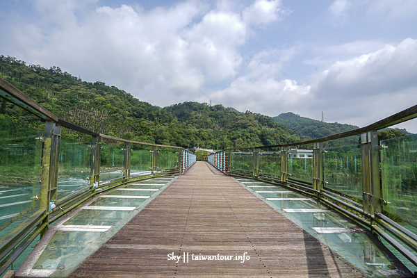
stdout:
<svg viewBox="0 0 417 278">
<path fill-rule="evenodd" d="M 61 137 L 58 156 L 58 197 L 90 185 L 90 146 L 91 142 Z"/>
</svg>

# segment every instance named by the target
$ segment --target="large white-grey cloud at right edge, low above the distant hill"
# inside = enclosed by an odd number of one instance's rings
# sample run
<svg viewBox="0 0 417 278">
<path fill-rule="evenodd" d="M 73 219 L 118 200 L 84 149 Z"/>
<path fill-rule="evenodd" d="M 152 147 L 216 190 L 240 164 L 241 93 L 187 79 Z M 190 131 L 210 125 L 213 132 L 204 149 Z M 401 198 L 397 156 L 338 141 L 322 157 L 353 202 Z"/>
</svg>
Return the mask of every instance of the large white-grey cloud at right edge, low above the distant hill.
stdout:
<svg viewBox="0 0 417 278">
<path fill-rule="evenodd" d="M 365 126 L 417 103 L 417 40 L 334 63 L 311 86 L 327 120 Z"/>
</svg>

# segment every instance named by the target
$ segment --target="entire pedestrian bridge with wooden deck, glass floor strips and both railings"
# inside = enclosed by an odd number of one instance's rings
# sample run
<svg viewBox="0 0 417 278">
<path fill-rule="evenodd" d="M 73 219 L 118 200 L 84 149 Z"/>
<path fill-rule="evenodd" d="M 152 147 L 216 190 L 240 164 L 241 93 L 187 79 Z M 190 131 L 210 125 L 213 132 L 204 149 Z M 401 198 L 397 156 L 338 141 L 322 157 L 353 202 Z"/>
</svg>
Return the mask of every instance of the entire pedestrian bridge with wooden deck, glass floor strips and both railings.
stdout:
<svg viewBox="0 0 417 278">
<path fill-rule="evenodd" d="M 0 120 L 5 277 L 414 277 L 416 137 L 377 131 L 417 106 L 202 162 L 60 120 L 3 79 L 0 95 L 45 122 Z"/>
</svg>

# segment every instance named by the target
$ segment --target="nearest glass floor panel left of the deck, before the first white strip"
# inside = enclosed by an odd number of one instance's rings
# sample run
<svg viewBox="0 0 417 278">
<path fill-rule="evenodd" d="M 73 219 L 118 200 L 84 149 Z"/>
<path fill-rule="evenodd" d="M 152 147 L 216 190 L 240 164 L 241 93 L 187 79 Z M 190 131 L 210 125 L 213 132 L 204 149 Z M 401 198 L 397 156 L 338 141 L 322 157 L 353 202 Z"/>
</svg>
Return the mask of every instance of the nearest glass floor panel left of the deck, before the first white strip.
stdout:
<svg viewBox="0 0 417 278">
<path fill-rule="evenodd" d="M 75 256 L 97 249 L 96 241 L 101 234 L 100 231 L 56 231 L 33 269 L 69 268 L 72 261 L 77 261 Z"/>
</svg>

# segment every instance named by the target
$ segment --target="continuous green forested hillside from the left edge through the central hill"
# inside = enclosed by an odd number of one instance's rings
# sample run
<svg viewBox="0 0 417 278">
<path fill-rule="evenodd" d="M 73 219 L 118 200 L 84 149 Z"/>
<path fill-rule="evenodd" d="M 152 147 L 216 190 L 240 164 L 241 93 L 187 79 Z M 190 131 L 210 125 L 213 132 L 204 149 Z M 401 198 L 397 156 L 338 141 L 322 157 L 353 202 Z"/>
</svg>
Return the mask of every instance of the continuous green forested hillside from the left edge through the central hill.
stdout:
<svg viewBox="0 0 417 278">
<path fill-rule="evenodd" d="M 26 65 L 9 56 L 0 56 L 0 76 L 61 119 L 111 136 L 218 149 L 302 140 L 271 117 L 195 102 L 160 108 L 104 82 L 85 82 L 59 67 Z M 0 102 L 0 117 L 40 128 L 33 116 L 16 113 L 6 100 Z"/>
</svg>

